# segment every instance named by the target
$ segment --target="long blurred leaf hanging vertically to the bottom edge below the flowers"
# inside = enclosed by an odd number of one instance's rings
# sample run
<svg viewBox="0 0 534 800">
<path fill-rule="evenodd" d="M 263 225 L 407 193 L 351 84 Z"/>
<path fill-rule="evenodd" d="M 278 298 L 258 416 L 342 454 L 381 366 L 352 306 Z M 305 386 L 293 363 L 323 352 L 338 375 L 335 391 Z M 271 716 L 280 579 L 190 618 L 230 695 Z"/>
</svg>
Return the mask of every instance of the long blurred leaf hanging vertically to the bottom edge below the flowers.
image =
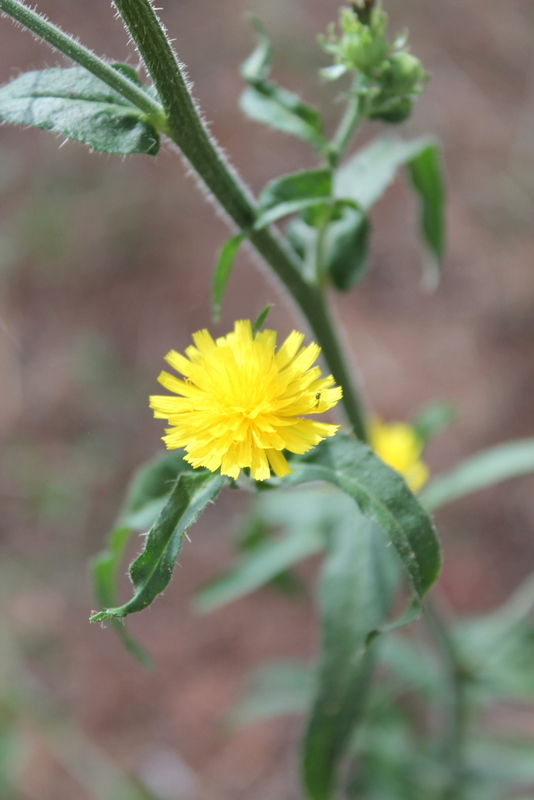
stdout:
<svg viewBox="0 0 534 800">
<path fill-rule="evenodd" d="M 354 509 L 332 531 L 319 588 L 322 650 L 315 700 L 302 743 L 311 800 L 329 800 L 369 692 L 371 631 L 386 619 L 398 569 L 383 532 Z"/>
</svg>

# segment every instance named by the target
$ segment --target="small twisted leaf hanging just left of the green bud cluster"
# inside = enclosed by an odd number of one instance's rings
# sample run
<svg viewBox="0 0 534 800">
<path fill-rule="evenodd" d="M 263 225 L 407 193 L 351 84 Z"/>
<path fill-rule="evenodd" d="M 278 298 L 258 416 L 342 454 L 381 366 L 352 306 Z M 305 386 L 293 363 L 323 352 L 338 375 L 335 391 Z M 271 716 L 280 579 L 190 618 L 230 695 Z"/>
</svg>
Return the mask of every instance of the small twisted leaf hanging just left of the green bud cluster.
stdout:
<svg viewBox="0 0 534 800">
<path fill-rule="evenodd" d="M 326 139 L 321 114 L 298 95 L 267 80 L 272 45 L 261 22 L 256 17 L 252 20 L 259 42 L 241 67 L 241 76 L 248 84 L 240 99 L 242 111 L 256 122 L 305 139 L 322 152 Z"/>
</svg>

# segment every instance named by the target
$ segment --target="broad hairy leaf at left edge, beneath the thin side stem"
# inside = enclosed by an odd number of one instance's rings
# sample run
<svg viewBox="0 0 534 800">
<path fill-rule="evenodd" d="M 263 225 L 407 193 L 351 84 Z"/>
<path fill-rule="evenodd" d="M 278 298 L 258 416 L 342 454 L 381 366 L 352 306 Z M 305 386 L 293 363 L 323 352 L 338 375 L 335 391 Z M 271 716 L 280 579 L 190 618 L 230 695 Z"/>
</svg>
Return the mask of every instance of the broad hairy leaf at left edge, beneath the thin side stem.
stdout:
<svg viewBox="0 0 534 800">
<path fill-rule="evenodd" d="M 26 72 L 2 86 L 0 119 L 56 131 L 105 153 L 159 150 L 149 118 L 83 67 Z"/>
</svg>

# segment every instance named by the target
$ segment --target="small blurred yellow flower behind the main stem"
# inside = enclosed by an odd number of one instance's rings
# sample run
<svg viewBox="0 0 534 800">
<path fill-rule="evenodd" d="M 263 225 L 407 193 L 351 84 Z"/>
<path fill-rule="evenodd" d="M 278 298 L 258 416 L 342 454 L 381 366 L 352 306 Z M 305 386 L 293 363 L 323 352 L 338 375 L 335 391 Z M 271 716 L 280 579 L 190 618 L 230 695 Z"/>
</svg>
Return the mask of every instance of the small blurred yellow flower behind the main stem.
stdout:
<svg viewBox="0 0 534 800">
<path fill-rule="evenodd" d="M 384 423 L 371 420 L 369 443 L 382 461 L 404 476 L 412 492 L 427 482 L 428 467 L 421 461 L 423 442 L 415 430 L 404 422 Z"/>
</svg>

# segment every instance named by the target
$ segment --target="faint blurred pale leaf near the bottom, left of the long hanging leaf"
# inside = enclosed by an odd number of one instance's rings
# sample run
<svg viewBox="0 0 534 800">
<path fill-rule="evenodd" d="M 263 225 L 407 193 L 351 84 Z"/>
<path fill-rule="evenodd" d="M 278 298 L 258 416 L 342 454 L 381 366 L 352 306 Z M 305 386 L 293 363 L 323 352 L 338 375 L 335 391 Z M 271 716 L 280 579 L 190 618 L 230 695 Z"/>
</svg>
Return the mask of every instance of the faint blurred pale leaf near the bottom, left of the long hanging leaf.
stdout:
<svg viewBox="0 0 534 800">
<path fill-rule="evenodd" d="M 298 661 L 275 661 L 255 670 L 230 715 L 235 726 L 272 717 L 304 714 L 312 700 L 315 674 Z"/>
</svg>

